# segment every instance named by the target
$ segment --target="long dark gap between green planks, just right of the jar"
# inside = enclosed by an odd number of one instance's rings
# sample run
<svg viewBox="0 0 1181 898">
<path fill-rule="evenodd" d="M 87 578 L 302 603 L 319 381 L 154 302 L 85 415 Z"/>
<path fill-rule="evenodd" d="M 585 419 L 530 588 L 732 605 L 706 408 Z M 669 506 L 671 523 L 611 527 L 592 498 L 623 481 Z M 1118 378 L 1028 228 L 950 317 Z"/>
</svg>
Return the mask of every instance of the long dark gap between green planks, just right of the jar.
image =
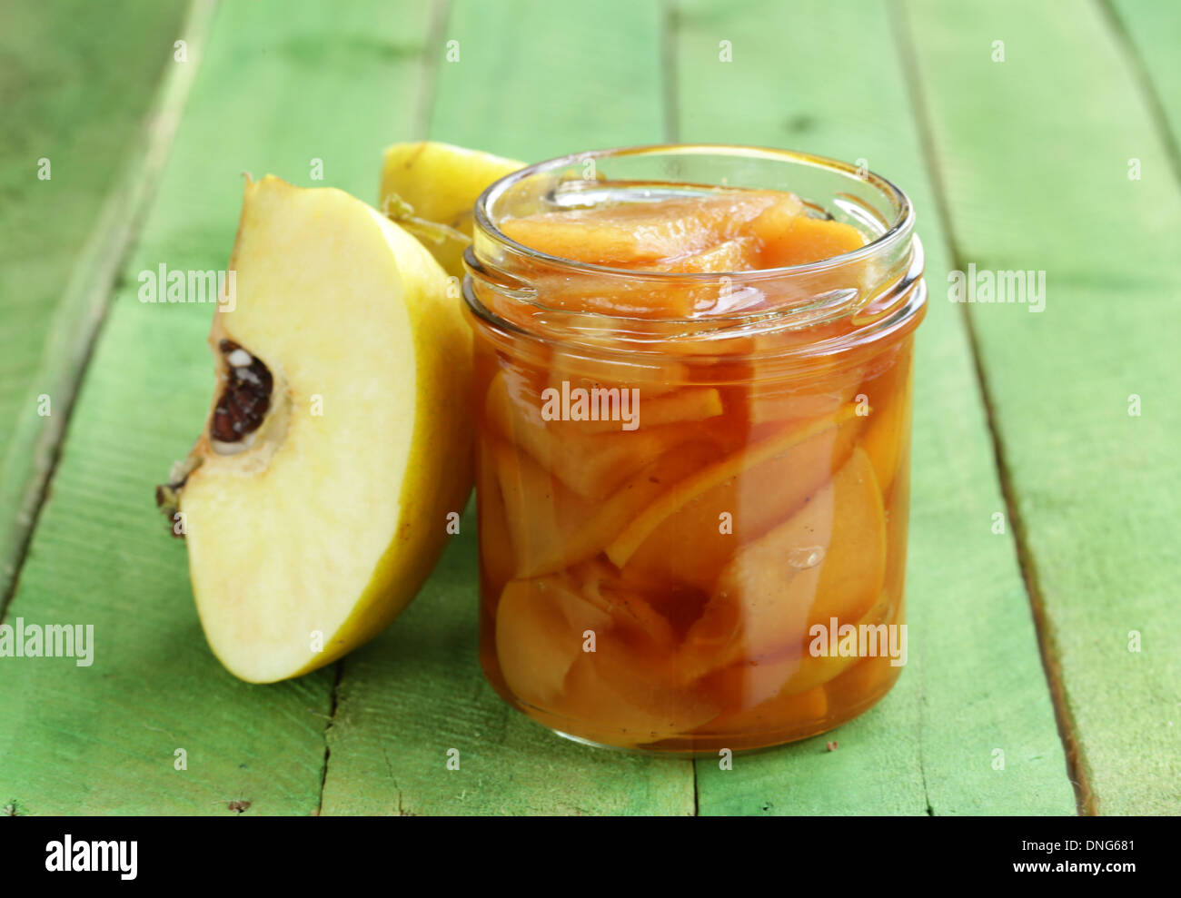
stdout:
<svg viewBox="0 0 1181 898">
<path fill-rule="evenodd" d="M 1104 0 L 1097 0 L 1103 4 Z M 915 127 L 919 135 L 919 145 L 922 148 L 924 159 L 931 171 L 931 184 L 934 192 L 935 215 L 939 217 L 944 234 L 947 237 L 947 249 L 952 264 L 963 269 L 964 258 L 955 237 L 955 228 L 952 222 L 951 211 L 947 205 L 946 184 L 944 173 L 939 165 L 939 157 L 935 152 L 934 135 L 927 106 L 919 85 L 919 71 L 915 58 L 915 46 L 911 35 L 909 26 L 906 21 L 906 13 L 901 8 L 905 0 L 889 0 L 887 11 L 890 27 L 894 31 L 895 45 L 899 50 L 902 73 L 906 79 L 907 93 L 911 98 L 911 107 L 914 110 Z M 997 467 L 997 477 L 1000 480 L 1000 492 L 1005 500 L 1005 514 L 1013 527 L 1013 543 L 1017 549 L 1017 561 L 1020 565 L 1022 579 L 1025 584 L 1025 592 L 1029 597 L 1030 610 L 1033 616 L 1033 628 L 1037 632 L 1038 653 L 1042 656 L 1042 668 L 1045 671 L 1046 684 L 1050 688 L 1050 699 L 1053 703 L 1053 716 L 1058 726 L 1058 738 L 1062 740 L 1066 756 L 1066 776 L 1075 789 L 1075 802 L 1079 814 L 1095 815 L 1097 807 L 1090 784 L 1083 773 L 1087 769 L 1085 754 L 1078 742 L 1075 732 L 1074 716 L 1066 703 L 1065 687 L 1062 680 L 1057 657 L 1058 649 L 1051 632 L 1050 623 L 1045 614 L 1045 604 L 1042 597 L 1042 586 L 1037 576 L 1037 565 L 1029 550 L 1026 540 L 1025 522 L 1020 517 L 1017 499 L 1013 494 L 1013 485 L 1009 474 L 1009 464 L 1005 458 L 1004 443 L 997 427 L 997 418 L 993 408 L 992 393 L 988 389 L 988 380 L 984 371 L 979 339 L 968 312 L 967 304 L 961 308 L 964 325 L 967 330 L 968 345 L 972 348 L 972 367 L 976 371 L 977 385 L 980 389 L 980 398 L 984 404 L 985 420 L 988 425 L 988 435 L 992 443 L 992 453 Z M 929 811 L 928 811 L 929 812 Z"/>
</svg>

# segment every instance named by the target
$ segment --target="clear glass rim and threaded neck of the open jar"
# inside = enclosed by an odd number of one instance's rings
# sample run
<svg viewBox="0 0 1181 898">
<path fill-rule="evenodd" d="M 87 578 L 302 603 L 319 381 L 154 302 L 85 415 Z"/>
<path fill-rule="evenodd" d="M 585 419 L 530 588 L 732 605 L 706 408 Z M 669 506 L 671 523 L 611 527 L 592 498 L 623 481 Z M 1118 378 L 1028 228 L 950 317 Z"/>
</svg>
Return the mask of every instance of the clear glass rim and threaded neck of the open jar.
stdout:
<svg viewBox="0 0 1181 898">
<path fill-rule="evenodd" d="M 673 177 L 657 175 L 647 178 L 652 183 L 673 182 L 681 185 L 722 189 L 791 190 L 814 210 L 831 215 L 827 207 L 817 205 L 816 201 L 831 203 L 834 211 L 837 211 L 847 223 L 854 224 L 867 237 L 867 242 L 848 253 L 778 268 L 743 271 L 659 271 L 602 266 L 555 256 L 518 243 L 498 227 L 498 221 L 503 221 L 507 216 L 497 215 L 497 207 L 511 191 L 523 191 L 529 186 L 527 182 L 533 179 L 539 179 L 542 186 L 550 185 L 550 191 L 553 185 L 561 183 L 593 184 L 596 183 L 594 178 L 586 175 L 568 177 L 563 182 L 559 173 L 570 172 L 572 169 L 585 171 L 592 165 L 598 170 L 599 163 L 602 163 L 603 169 L 611 168 L 614 163 L 616 169 L 631 166 L 637 171 L 647 171 L 648 168 L 655 166 L 664 172 L 672 166 L 678 170 L 678 175 L 684 164 L 684 168 L 694 172 L 697 170 L 709 172 L 704 177 L 694 177 L 691 173 L 679 182 Z M 733 181 L 730 178 L 731 171 L 735 172 Z M 769 178 L 774 186 L 765 183 Z M 792 189 L 796 183 L 807 182 L 809 178 L 820 178 L 823 186 L 816 191 Z M 752 179 L 758 183 L 744 183 Z M 916 315 L 921 312 L 926 299 L 926 290 L 921 283 L 922 249 L 914 236 L 915 215 L 906 194 L 893 182 L 867 168 L 792 150 L 733 144 L 652 144 L 570 153 L 529 165 L 494 182 L 476 201 L 474 219 L 475 243 L 464 253 L 468 276 L 464 278 L 463 294 L 468 306 L 487 323 L 520 336 L 547 342 L 580 342 L 580 334 L 596 326 L 605 330 L 622 328 L 645 332 L 651 330 L 651 326 L 659 325 L 666 334 L 655 342 L 668 336 L 711 339 L 771 329 L 802 329 L 856 315 L 870 302 L 873 299 L 870 294 L 879 299 L 892 296 L 894 301 L 881 308 L 876 308 L 875 301 L 876 314 L 872 316 L 873 320 L 863 322 L 864 326 L 857 327 L 855 334 L 848 335 L 856 337 L 856 342 L 863 342 L 867 339 L 883 336 L 886 332 L 896 332 L 907 325 L 915 326 Z M 543 291 L 533 287 L 528 282 L 528 276 L 515 276 L 514 269 L 544 270 L 570 283 L 598 278 L 606 291 L 611 291 L 612 282 L 652 286 L 658 289 L 693 289 L 724 282 L 727 289 L 753 291 L 764 291 L 774 284 L 772 291 L 796 291 L 807 301 L 762 308 L 739 306 L 735 309 L 710 309 L 704 314 L 690 316 L 652 317 L 627 312 L 608 314 L 594 310 L 572 313 L 570 309 L 559 309 L 547 304 Z M 870 270 L 874 273 L 874 289 L 867 290 L 862 281 Z M 849 284 L 809 296 L 809 289 L 815 290 L 817 283 L 840 286 L 842 274 L 849 276 Z M 565 319 L 576 316 L 580 325 L 569 336 L 556 339 L 553 335 L 522 328 L 488 308 L 476 295 L 474 281 L 478 282 L 481 288 L 492 289 L 502 300 L 529 307 L 539 315 L 553 313 Z M 852 286 L 854 281 L 857 282 L 856 288 Z M 807 354 L 840 349 L 824 343 L 826 341 L 820 341 Z M 633 345 L 631 349 L 659 353 L 659 346 Z M 798 350 L 798 354 L 804 353 L 803 348 Z"/>
</svg>

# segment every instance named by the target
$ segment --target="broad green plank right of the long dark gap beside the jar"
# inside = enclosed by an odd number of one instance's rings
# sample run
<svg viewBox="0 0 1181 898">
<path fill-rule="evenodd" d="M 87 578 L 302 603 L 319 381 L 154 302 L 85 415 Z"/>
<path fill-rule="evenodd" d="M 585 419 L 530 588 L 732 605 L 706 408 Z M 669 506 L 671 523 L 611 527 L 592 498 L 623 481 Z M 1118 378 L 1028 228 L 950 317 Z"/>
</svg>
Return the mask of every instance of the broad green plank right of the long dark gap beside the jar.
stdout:
<svg viewBox="0 0 1181 898">
<path fill-rule="evenodd" d="M 955 263 L 1045 274 L 1040 314 L 968 312 L 1088 809 L 1177 813 L 1181 194 L 1167 148 L 1094 5 L 911 2 L 906 24 Z"/>
</svg>

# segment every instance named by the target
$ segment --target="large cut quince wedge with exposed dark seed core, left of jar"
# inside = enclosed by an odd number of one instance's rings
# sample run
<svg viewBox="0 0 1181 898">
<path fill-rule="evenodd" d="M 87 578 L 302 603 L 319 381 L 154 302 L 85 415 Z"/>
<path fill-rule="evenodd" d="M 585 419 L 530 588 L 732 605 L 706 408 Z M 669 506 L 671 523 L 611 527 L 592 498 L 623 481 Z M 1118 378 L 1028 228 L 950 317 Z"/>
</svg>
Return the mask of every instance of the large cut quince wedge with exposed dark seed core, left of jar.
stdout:
<svg viewBox="0 0 1181 898">
<path fill-rule="evenodd" d="M 471 489 L 471 336 L 430 254 L 340 190 L 248 181 L 230 268 L 213 408 L 162 498 L 214 654 L 270 682 L 377 635 L 430 573 Z"/>
</svg>

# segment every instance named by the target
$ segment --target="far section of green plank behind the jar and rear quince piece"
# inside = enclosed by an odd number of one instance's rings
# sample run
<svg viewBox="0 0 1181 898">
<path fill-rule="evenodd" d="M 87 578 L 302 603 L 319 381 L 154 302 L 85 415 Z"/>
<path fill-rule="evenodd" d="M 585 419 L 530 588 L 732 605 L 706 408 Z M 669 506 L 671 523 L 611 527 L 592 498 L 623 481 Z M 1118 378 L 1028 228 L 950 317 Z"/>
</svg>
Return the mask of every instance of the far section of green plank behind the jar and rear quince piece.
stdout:
<svg viewBox="0 0 1181 898">
<path fill-rule="evenodd" d="M 455 0 L 441 37 L 461 57 L 441 64 L 429 136 L 530 162 L 655 143 L 661 27 L 655 5 L 626 0 L 593 14 L 546 0 Z"/>
</svg>

